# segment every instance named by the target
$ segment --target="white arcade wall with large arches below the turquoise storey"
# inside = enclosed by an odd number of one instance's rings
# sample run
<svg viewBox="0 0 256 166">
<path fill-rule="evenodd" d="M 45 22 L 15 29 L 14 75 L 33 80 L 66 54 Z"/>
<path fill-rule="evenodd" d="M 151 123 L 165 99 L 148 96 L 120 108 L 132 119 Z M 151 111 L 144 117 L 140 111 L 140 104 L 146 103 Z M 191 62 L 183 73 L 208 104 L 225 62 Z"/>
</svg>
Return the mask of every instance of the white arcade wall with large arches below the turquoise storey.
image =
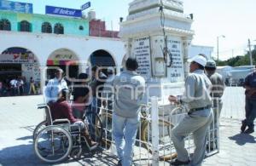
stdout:
<svg viewBox="0 0 256 166">
<path fill-rule="evenodd" d="M 9 66 L 20 65 L 22 76 L 26 77 L 26 80 L 33 77 L 36 81 L 44 78 L 42 73 L 45 72 L 46 66 L 61 66 L 63 65 L 61 61 L 90 61 L 91 56 L 101 51 L 113 58 L 114 64 L 109 66 L 121 66 L 125 56 L 124 43 L 118 38 L 0 31 L 0 53 L 14 47 L 31 51 L 37 63 L 23 63 L 21 60 L 15 60 L 15 54 L 4 60 L 6 56 L 2 54 L 0 66 L 6 62 Z M 50 64 L 51 62 L 53 64 Z M 81 64 L 79 64 L 79 72 L 85 72 L 85 67 Z"/>
</svg>

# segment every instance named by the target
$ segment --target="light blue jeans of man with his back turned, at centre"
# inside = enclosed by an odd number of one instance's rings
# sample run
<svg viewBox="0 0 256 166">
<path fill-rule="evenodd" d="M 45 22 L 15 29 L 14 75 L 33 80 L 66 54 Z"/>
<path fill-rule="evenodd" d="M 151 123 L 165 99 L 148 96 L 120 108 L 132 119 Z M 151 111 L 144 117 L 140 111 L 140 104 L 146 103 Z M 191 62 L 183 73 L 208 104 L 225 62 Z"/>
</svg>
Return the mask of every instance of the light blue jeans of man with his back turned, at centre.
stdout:
<svg viewBox="0 0 256 166">
<path fill-rule="evenodd" d="M 113 139 L 122 166 L 131 166 L 133 146 L 135 144 L 140 117 L 125 118 L 113 113 Z"/>
</svg>

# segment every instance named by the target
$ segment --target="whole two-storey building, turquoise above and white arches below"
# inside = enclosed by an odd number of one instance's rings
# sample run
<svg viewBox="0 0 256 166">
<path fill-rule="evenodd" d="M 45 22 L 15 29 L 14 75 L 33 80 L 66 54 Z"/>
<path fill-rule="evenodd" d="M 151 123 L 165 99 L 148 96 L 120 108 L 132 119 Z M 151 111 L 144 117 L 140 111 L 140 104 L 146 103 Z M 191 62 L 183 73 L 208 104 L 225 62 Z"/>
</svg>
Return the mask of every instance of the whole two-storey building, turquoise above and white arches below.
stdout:
<svg viewBox="0 0 256 166">
<path fill-rule="evenodd" d="M 0 11 L 0 81 L 33 77 L 39 83 L 55 67 L 77 77 L 87 70 L 85 62 L 121 66 L 124 56 L 117 36 L 90 36 L 87 19 Z"/>
</svg>

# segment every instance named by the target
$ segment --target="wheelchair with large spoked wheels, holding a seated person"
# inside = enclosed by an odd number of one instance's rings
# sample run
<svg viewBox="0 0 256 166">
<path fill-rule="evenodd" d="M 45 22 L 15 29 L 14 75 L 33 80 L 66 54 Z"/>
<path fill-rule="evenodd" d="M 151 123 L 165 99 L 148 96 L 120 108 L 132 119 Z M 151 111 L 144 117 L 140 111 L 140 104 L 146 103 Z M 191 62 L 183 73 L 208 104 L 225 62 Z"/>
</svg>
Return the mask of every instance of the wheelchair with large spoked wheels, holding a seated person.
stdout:
<svg viewBox="0 0 256 166">
<path fill-rule="evenodd" d="M 83 150 L 89 152 L 89 143 L 81 135 L 78 125 L 71 124 L 68 119 L 52 120 L 50 108 L 46 104 L 38 105 L 44 109 L 45 120 L 38 124 L 33 131 L 33 147 L 38 158 L 46 163 L 57 163 L 67 157 L 79 158 Z M 102 142 L 102 122 L 94 112 L 87 112 L 84 116 L 90 138 L 98 143 Z"/>
</svg>

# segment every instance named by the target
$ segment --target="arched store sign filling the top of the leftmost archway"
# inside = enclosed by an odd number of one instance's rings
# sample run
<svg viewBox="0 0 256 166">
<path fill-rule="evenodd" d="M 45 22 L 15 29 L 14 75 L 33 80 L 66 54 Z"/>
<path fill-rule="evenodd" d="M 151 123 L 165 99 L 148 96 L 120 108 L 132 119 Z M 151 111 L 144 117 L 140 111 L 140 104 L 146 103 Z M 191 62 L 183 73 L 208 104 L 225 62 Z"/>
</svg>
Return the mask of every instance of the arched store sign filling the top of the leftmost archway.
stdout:
<svg viewBox="0 0 256 166">
<path fill-rule="evenodd" d="M 37 62 L 37 60 L 35 59 L 34 54 L 27 49 L 10 48 L 0 54 L 0 63 L 24 64 L 35 62 Z"/>
</svg>

